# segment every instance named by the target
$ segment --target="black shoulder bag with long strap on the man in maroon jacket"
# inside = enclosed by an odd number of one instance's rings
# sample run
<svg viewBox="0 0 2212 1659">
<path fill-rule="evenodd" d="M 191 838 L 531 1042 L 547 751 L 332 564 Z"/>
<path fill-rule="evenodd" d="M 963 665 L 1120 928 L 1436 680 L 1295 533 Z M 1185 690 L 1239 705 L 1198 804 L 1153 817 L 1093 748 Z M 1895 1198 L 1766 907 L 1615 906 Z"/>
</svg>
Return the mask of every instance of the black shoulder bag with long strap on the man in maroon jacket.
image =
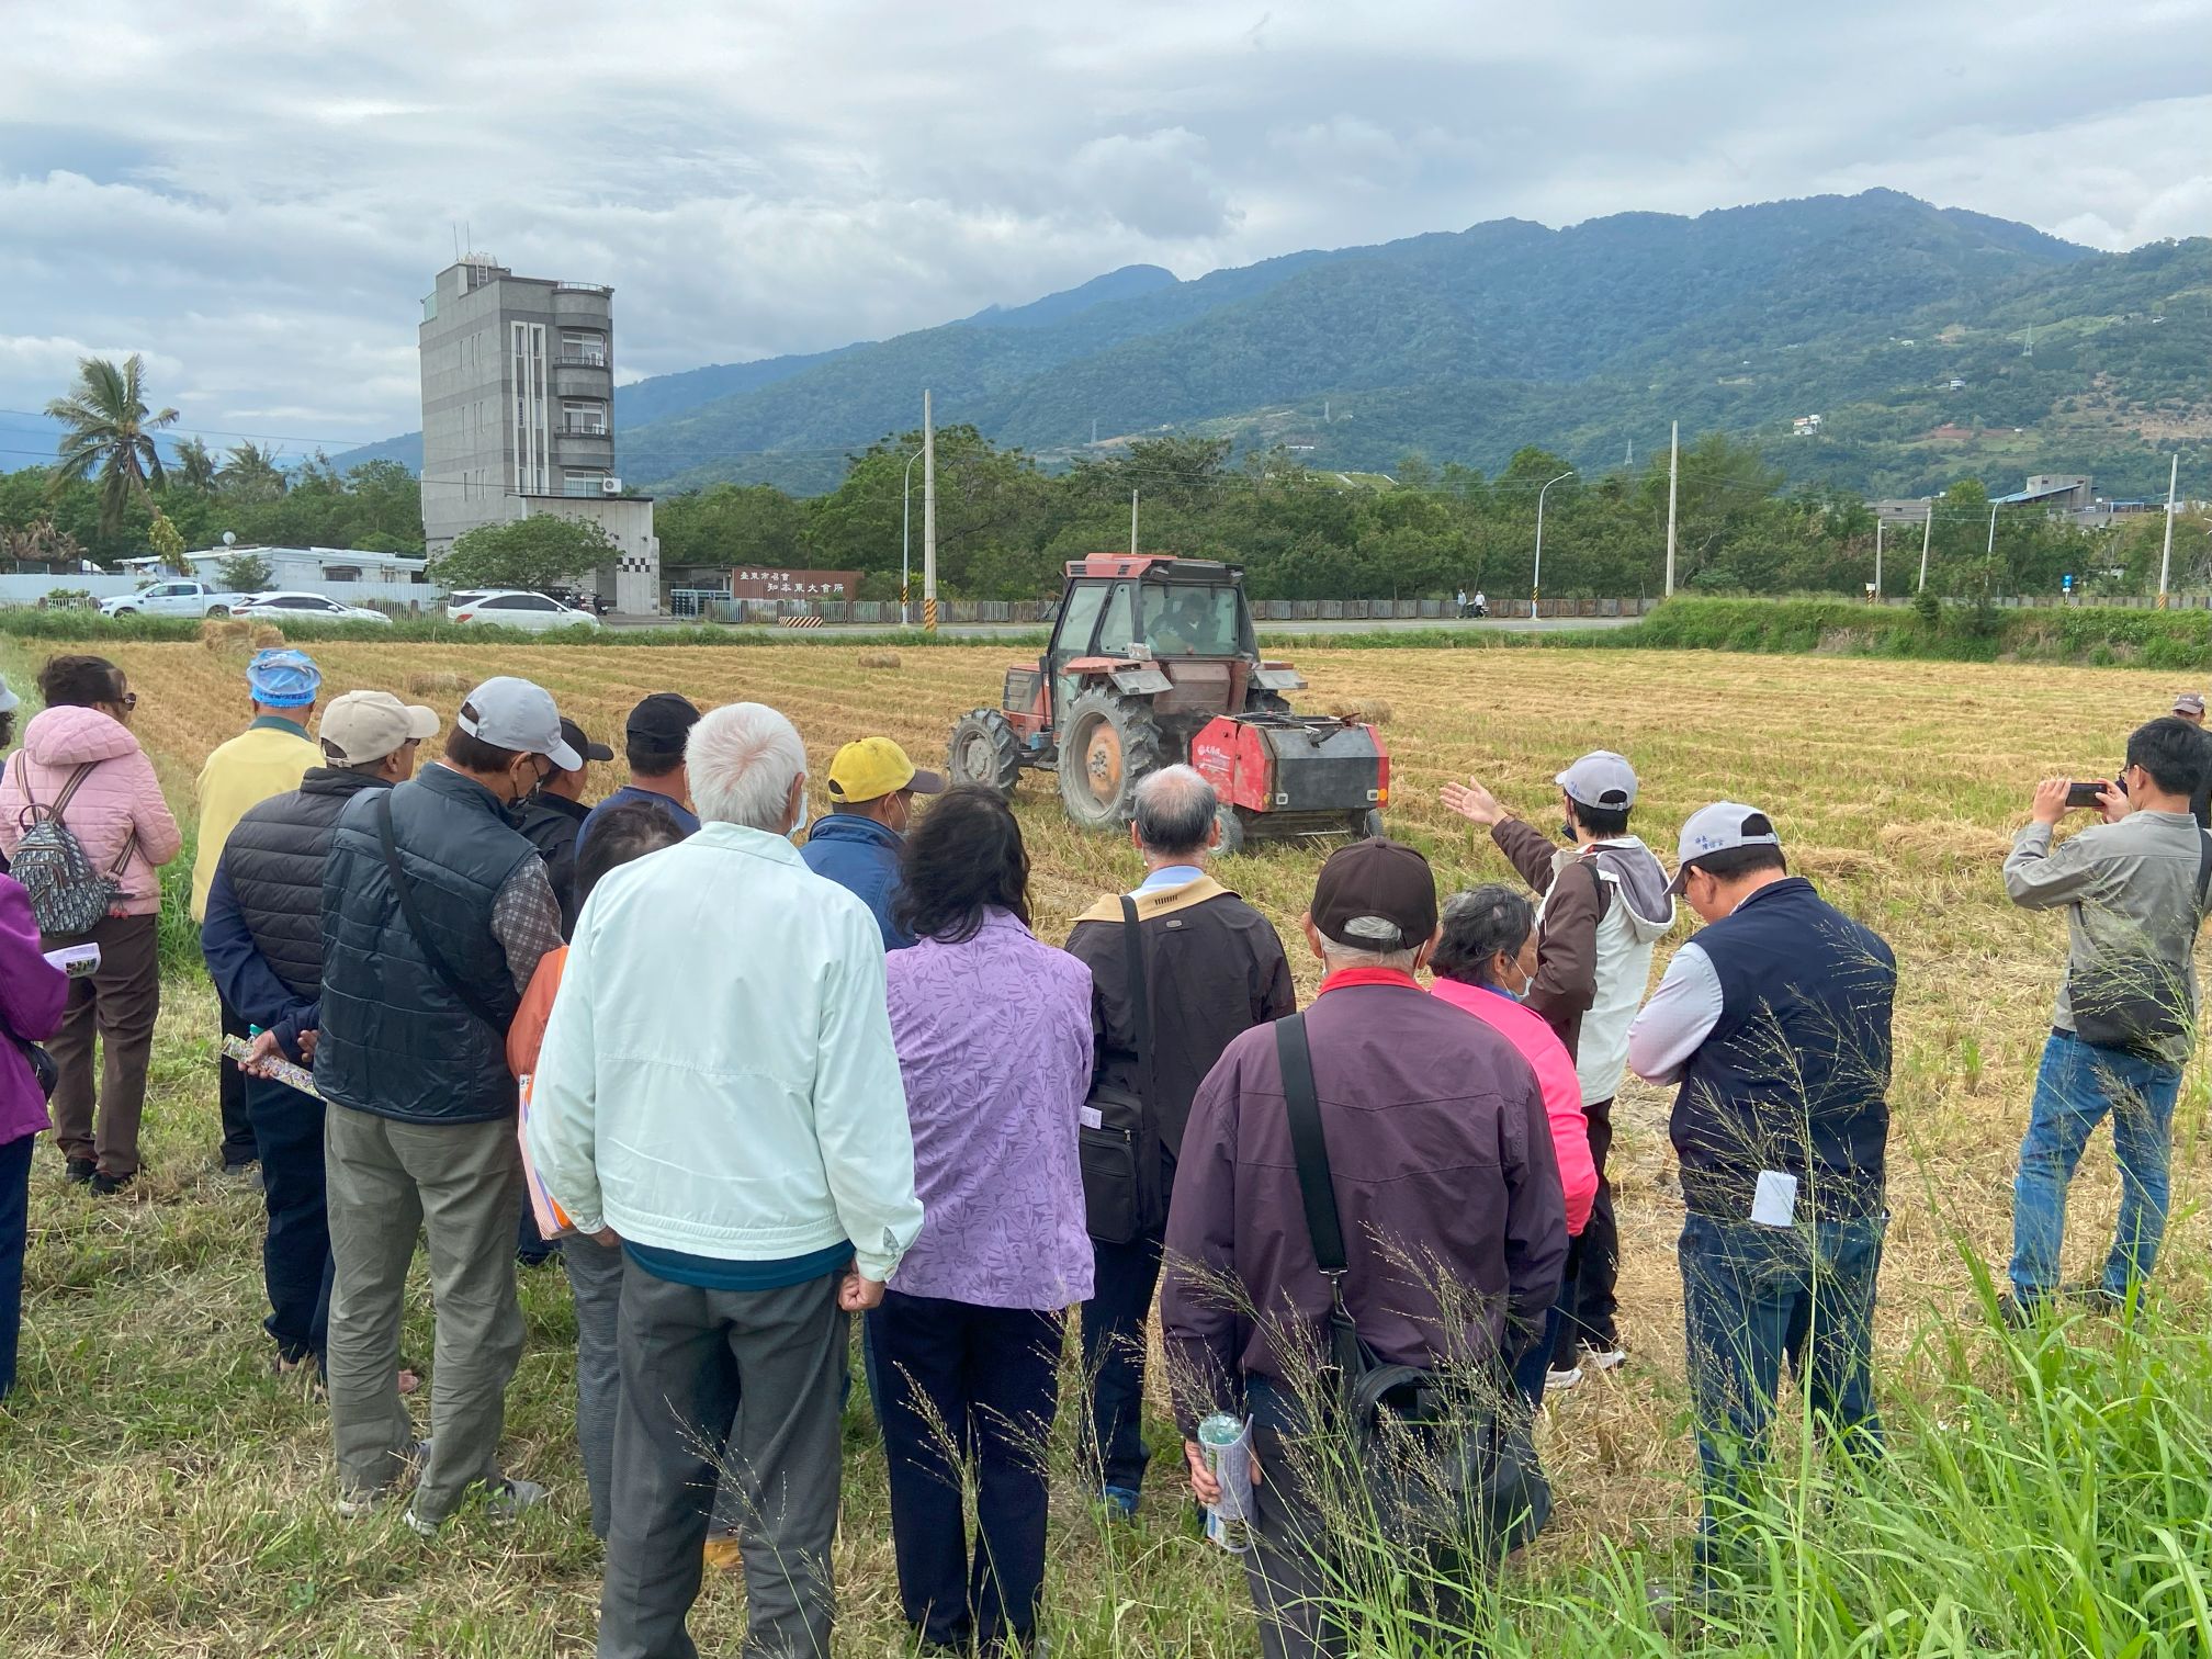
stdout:
<svg viewBox="0 0 2212 1659">
<path fill-rule="evenodd" d="M 1502 1374 L 1385 1365 L 1367 1347 L 1345 1307 L 1349 1259 L 1303 1013 L 1274 1022 L 1274 1051 L 1283 1064 L 1305 1228 L 1314 1263 L 1329 1281 L 1336 1429 L 1352 1438 L 1376 1520 L 1396 1544 L 1460 1542 L 1484 1559 L 1500 1559 L 1551 1520 L 1551 1484 L 1528 1413 Z"/>
</svg>

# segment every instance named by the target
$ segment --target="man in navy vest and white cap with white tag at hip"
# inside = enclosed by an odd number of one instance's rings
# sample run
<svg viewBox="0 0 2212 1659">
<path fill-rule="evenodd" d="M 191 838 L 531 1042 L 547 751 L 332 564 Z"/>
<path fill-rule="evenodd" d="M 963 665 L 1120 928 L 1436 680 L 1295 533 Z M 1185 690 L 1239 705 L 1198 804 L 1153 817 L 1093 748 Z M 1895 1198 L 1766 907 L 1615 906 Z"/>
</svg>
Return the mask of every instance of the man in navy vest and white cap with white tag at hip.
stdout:
<svg viewBox="0 0 2212 1659">
<path fill-rule="evenodd" d="M 1710 1562 L 1719 1515 L 1761 1460 L 1783 1358 L 1843 1444 L 1880 1449 L 1871 1336 L 1898 964 L 1790 874 L 1756 807 L 1692 812 L 1670 891 L 1705 927 L 1628 1029 L 1628 1064 L 1681 1084 L 1670 1133 L 1690 1212 L 1681 1285 Z"/>
</svg>

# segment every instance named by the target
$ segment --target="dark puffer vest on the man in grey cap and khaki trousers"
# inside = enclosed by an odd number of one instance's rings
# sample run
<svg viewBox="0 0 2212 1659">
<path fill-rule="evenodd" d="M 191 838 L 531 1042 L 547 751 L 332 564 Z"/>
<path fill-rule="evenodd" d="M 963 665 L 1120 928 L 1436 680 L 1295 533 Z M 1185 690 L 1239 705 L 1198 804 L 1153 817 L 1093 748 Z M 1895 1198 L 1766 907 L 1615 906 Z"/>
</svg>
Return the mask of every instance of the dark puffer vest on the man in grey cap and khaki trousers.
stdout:
<svg viewBox="0 0 2212 1659">
<path fill-rule="evenodd" d="M 385 801 L 416 911 L 498 1029 L 431 973 L 400 914 L 378 834 Z M 325 1099 L 407 1124 L 513 1115 L 507 1024 L 520 995 L 491 911 L 500 887 L 535 856 L 491 790 L 442 765 L 396 790 L 347 801 L 323 867 L 323 1033 L 314 1086 Z"/>
</svg>

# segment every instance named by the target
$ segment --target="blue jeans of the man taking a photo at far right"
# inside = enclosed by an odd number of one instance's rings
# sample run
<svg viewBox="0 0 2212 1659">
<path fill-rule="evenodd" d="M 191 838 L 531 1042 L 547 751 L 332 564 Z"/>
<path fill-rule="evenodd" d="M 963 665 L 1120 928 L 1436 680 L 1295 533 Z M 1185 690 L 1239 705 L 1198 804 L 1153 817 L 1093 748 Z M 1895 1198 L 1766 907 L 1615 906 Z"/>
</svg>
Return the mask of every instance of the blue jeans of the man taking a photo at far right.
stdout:
<svg viewBox="0 0 2212 1659">
<path fill-rule="evenodd" d="M 2126 1296 L 2150 1279 L 2166 1237 L 2168 1177 L 2174 1150 L 2174 1095 L 2181 1071 L 2119 1048 L 2097 1048 L 2053 1031 L 2035 1073 L 2028 1133 L 2013 1181 L 2013 1294 L 2026 1305 L 2059 1283 L 2066 1239 L 2066 1188 L 2090 1133 L 2112 1115 L 2119 1157 L 2119 1230 L 2104 1261 L 2104 1287 Z"/>
</svg>

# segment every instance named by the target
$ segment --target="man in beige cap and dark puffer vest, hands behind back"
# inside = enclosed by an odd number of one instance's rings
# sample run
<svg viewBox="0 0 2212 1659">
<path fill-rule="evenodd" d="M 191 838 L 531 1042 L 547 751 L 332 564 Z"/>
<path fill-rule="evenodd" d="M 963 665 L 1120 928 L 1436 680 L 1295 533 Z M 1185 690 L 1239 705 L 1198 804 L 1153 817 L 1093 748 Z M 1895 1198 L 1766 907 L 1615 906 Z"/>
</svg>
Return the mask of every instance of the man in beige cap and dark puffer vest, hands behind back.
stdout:
<svg viewBox="0 0 2212 1659">
<path fill-rule="evenodd" d="M 345 803 L 414 776 L 438 712 L 392 692 L 347 692 L 323 710 L 323 765 L 292 794 L 270 796 L 232 827 L 208 887 L 199 947 L 223 1006 L 259 1033 L 259 1062 L 307 1064 L 323 995 L 323 860 Z M 261 1148 L 268 1237 L 261 1279 L 276 1369 L 323 1367 L 330 1332 L 330 1221 L 323 1183 L 323 1102 L 254 1071 L 246 1110 Z"/>
</svg>

